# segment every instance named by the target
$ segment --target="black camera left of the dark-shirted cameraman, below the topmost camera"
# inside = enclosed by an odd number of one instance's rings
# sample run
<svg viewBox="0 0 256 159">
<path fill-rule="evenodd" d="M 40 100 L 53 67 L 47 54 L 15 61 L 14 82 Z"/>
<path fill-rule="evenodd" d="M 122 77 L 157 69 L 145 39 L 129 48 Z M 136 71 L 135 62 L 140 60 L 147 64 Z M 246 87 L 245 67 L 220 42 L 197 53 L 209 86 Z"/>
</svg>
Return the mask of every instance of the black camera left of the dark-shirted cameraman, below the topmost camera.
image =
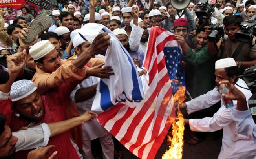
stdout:
<svg viewBox="0 0 256 159">
<path fill-rule="evenodd" d="M 219 24 L 211 25 L 208 30 L 212 30 L 212 32 L 207 36 L 210 42 L 217 42 L 219 38 L 224 36 L 224 29 Z"/>
</svg>

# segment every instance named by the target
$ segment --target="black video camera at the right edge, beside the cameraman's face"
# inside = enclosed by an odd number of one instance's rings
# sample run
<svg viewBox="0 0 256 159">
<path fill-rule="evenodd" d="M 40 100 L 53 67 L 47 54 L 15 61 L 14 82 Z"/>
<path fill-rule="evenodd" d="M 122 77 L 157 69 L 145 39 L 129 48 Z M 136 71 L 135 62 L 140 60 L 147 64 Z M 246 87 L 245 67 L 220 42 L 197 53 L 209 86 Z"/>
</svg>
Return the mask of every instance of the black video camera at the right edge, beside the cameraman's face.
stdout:
<svg viewBox="0 0 256 159">
<path fill-rule="evenodd" d="M 256 15 L 254 14 L 252 18 L 248 21 L 243 21 L 241 24 L 241 30 L 236 32 L 236 40 L 245 42 L 252 46 L 253 36 L 256 33 Z"/>
</svg>

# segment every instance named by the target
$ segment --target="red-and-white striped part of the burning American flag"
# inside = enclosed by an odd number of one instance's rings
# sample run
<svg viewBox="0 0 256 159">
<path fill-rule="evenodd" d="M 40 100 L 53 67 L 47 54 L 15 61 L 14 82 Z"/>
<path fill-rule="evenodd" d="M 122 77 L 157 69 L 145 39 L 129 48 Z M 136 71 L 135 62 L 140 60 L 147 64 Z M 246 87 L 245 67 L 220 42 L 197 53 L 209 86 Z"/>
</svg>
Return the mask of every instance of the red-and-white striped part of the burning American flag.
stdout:
<svg viewBox="0 0 256 159">
<path fill-rule="evenodd" d="M 97 118 L 121 144 L 141 159 L 155 157 L 172 124 L 168 121 L 175 117 L 163 51 L 166 44 L 178 46 L 172 33 L 152 27 L 143 62 L 143 67 L 148 70 L 143 81 L 144 100 L 133 108 L 118 103 Z"/>
</svg>

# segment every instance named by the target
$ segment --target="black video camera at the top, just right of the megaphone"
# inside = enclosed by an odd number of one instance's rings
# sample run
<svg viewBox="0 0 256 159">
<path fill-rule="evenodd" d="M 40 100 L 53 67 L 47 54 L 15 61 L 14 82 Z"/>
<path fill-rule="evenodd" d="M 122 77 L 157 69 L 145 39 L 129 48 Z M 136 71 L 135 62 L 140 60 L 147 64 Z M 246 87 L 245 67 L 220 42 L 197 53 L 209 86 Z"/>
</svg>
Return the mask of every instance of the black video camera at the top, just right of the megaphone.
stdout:
<svg viewBox="0 0 256 159">
<path fill-rule="evenodd" d="M 214 9 L 215 4 L 208 3 L 208 0 L 200 0 L 198 2 L 198 8 L 196 11 L 196 16 L 198 19 L 210 19 L 212 10 Z"/>
</svg>

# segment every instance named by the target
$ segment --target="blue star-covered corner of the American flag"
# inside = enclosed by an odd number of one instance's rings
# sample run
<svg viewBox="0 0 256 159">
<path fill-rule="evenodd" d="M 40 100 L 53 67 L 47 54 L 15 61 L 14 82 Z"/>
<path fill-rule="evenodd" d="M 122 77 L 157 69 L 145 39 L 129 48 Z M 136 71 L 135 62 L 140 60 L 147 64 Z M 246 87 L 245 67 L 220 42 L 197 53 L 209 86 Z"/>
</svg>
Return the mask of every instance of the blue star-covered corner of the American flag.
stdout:
<svg viewBox="0 0 256 159">
<path fill-rule="evenodd" d="M 170 79 L 172 79 L 172 92 L 177 92 L 180 86 L 186 85 L 181 49 L 178 46 L 168 45 L 164 48 L 164 54 L 166 68 L 168 69 Z"/>
</svg>

